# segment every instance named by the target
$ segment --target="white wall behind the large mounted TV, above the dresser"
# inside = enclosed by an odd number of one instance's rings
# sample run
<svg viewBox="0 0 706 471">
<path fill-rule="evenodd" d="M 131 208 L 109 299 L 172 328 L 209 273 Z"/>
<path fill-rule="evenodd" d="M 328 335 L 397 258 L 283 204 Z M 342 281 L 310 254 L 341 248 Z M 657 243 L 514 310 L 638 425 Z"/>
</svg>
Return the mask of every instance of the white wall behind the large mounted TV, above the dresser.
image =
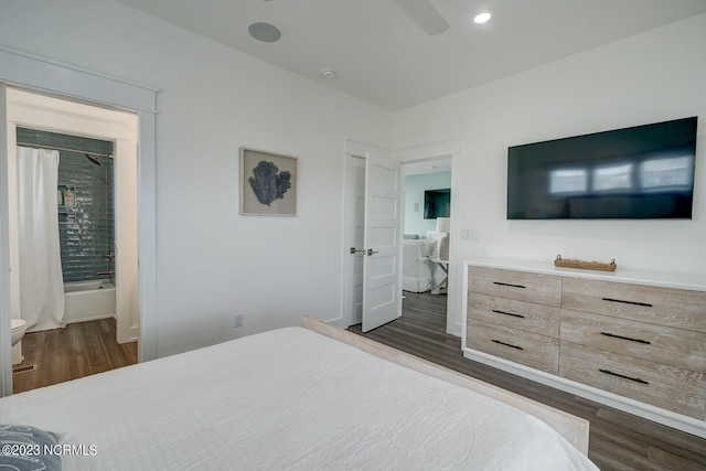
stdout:
<svg viewBox="0 0 706 471">
<path fill-rule="evenodd" d="M 456 227 L 480 240 L 452 234 L 457 277 L 474 257 L 550 263 L 557 254 L 616 258 L 618 269 L 706 274 L 704 45 L 706 14 L 397 113 L 395 147 L 462 136 Z M 509 146 L 688 116 L 700 120 L 693 221 L 505 220 Z"/>
</svg>

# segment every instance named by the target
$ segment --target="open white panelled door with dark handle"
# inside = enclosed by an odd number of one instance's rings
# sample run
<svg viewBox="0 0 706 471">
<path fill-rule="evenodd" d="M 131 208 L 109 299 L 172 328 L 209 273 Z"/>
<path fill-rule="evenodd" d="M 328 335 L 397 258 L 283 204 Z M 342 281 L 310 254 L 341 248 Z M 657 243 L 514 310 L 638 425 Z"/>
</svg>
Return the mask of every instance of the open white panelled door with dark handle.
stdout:
<svg viewBox="0 0 706 471">
<path fill-rule="evenodd" d="M 365 154 L 363 332 L 402 315 L 402 165 Z"/>
</svg>

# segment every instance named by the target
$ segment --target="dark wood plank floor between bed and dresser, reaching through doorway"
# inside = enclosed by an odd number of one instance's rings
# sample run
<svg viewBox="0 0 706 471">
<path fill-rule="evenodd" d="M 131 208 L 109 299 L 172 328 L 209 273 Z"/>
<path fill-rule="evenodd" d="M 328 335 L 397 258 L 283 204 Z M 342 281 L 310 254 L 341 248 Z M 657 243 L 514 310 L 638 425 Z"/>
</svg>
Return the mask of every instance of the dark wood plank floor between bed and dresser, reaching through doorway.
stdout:
<svg viewBox="0 0 706 471">
<path fill-rule="evenodd" d="M 706 440 L 472 362 L 446 333 L 446 296 L 405 292 L 402 318 L 363 334 L 590 421 L 589 458 L 602 471 L 706 470 Z"/>
</svg>

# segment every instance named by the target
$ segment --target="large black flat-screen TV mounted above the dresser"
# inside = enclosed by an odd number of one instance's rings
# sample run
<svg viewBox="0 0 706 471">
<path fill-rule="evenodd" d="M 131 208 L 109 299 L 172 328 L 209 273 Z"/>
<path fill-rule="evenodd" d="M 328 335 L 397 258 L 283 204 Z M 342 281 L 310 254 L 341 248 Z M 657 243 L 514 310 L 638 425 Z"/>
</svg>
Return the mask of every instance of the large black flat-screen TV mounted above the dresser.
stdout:
<svg viewBox="0 0 706 471">
<path fill-rule="evenodd" d="M 507 148 L 507 218 L 691 218 L 697 120 Z"/>
</svg>

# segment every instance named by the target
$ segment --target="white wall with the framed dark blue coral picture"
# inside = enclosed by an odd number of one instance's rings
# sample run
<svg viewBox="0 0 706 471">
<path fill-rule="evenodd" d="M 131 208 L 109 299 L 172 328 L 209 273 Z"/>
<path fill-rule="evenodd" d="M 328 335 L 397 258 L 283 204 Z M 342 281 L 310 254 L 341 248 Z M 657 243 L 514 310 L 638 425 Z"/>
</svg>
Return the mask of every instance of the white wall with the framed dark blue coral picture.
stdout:
<svg viewBox="0 0 706 471">
<path fill-rule="evenodd" d="M 108 0 L 0 0 L 0 44 L 160 89 L 159 356 L 341 315 L 344 141 L 388 111 Z M 240 146 L 299 158 L 297 217 L 238 215 Z"/>
</svg>

